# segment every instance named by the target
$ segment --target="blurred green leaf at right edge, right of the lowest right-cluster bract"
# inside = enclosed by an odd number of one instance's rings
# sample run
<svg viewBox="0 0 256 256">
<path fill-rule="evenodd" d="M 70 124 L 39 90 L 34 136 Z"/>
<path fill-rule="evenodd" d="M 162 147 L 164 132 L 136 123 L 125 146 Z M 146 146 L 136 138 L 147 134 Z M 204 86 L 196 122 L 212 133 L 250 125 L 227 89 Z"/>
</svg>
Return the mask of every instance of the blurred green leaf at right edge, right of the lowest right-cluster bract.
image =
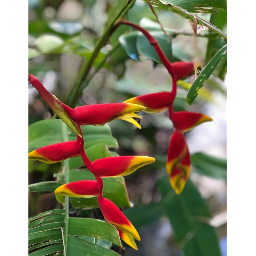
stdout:
<svg viewBox="0 0 256 256">
<path fill-rule="evenodd" d="M 227 180 L 227 160 L 203 153 L 191 155 L 192 167 L 195 172 L 215 179 Z"/>
</svg>

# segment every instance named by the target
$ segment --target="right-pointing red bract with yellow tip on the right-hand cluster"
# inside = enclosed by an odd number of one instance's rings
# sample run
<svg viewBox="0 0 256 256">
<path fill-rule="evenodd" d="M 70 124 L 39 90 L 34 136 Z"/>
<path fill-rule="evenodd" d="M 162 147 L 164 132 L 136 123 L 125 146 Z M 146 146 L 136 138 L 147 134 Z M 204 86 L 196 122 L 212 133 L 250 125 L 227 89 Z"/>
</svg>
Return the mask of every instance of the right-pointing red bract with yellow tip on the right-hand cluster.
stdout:
<svg viewBox="0 0 256 256">
<path fill-rule="evenodd" d="M 212 120 L 207 115 L 188 111 L 179 111 L 172 114 L 173 126 L 183 133 L 193 129 L 197 125 Z"/>
</svg>

